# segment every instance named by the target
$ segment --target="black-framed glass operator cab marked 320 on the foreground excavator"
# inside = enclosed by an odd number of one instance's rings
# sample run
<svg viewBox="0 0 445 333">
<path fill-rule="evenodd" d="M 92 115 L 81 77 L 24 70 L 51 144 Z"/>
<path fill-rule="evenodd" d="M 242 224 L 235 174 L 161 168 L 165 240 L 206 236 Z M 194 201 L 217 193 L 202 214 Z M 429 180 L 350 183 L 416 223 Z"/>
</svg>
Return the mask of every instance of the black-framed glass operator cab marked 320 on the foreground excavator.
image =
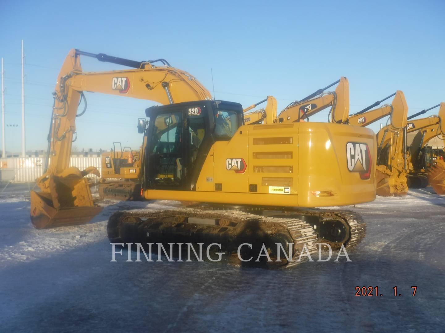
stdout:
<svg viewBox="0 0 445 333">
<path fill-rule="evenodd" d="M 146 116 L 143 186 L 152 190 L 194 190 L 213 143 L 244 124 L 241 104 L 219 100 L 149 107 Z"/>
</svg>

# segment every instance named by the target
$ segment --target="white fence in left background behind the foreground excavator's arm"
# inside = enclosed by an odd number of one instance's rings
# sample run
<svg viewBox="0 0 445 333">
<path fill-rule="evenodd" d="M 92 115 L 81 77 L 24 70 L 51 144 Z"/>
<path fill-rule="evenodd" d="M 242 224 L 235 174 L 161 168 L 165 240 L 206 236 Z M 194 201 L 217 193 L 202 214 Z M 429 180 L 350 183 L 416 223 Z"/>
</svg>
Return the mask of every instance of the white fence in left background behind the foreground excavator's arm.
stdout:
<svg viewBox="0 0 445 333">
<path fill-rule="evenodd" d="M 34 182 L 43 174 L 44 163 L 43 157 L 0 159 L 0 181 Z M 76 166 L 80 170 L 84 170 L 87 166 L 95 166 L 102 172 L 100 157 L 72 156 L 69 165 Z M 93 174 L 89 177 L 96 178 Z"/>
</svg>

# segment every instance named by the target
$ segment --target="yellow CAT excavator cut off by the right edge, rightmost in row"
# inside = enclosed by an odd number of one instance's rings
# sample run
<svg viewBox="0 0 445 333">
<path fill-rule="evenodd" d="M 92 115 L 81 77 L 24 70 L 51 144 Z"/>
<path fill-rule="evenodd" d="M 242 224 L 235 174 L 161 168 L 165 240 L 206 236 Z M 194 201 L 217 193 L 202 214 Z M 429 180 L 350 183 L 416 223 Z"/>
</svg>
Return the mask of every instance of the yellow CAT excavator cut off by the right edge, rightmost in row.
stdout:
<svg viewBox="0 0 445 333">
<path fill-rule="evenodd" d="M 440 107 L 438 115 L 411 120 L 436 107 Z M 433 156 L 433 152 L 427 146 L 427 143 L 434 137 L 443 139 L 445 142 L 445 123 L 443 119 L 445 119 L 445 103 L 440 103 L 408 117 L 409 122 L 407 123 L 407 133 L 418 131 L 408 150 L 408 163 L 412 166 L 409 175 L 422 177 L 426 172 L 428 183 L 437 194 L 445 194 L 445 163 L 443 159 Z M 426 183 L 423 186 L 419 186 L 417 182 L 411 185 L 409 184 L 409 187 L 425 187 Z"/>
</svg>

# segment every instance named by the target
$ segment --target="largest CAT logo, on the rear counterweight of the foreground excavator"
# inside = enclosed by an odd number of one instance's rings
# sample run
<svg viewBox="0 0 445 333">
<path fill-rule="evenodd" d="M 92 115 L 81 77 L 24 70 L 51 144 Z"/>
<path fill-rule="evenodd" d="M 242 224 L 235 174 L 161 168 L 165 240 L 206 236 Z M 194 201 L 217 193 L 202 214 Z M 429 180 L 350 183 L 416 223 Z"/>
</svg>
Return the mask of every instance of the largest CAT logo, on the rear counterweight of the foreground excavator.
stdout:
<svg viewBox="0 0 445 333">
<path fill-rule="evenodd" d="M 361 179 L 371 177 L 371 152 L 366 143 L 348 142 L 346 144 L 346 156 L 350 172 L 358 172 Z"/>
</svg>

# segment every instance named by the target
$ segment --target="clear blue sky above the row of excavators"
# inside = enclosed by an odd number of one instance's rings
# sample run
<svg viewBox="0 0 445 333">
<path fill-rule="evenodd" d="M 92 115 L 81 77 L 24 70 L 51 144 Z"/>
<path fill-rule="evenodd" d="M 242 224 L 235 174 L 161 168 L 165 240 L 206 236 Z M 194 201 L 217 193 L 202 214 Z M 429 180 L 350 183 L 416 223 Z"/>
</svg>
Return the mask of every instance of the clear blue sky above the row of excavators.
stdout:
<svg viewBox="0 0 445 333">
<path fill-rule="evenodd" d="M 5 123 L 20 125 L 24 40 L 27 150 L 46 149 L 52 92 L 71 48 L 127 59 L 165 58 L 216 99 L 248 106 L 267 95 L 281 110 L 340 76 L 351 113 L 402 90 L 409 114 L 445 100 L 445 1 L 2 1 L 0 57 Z M 84 71 L 120 69 L 96 59 Z M 150 101 L 88 93 L 78 149 L 136 149 L 136 123 Z M 436 114 L 437 109 L 427 115 Z M 311 118 L 325 121 L 327 111 Z M 376 131 L 380 123 L 371 126 Z M 20 127 L 6 127 L 20 151 Z"/>
</svg>

